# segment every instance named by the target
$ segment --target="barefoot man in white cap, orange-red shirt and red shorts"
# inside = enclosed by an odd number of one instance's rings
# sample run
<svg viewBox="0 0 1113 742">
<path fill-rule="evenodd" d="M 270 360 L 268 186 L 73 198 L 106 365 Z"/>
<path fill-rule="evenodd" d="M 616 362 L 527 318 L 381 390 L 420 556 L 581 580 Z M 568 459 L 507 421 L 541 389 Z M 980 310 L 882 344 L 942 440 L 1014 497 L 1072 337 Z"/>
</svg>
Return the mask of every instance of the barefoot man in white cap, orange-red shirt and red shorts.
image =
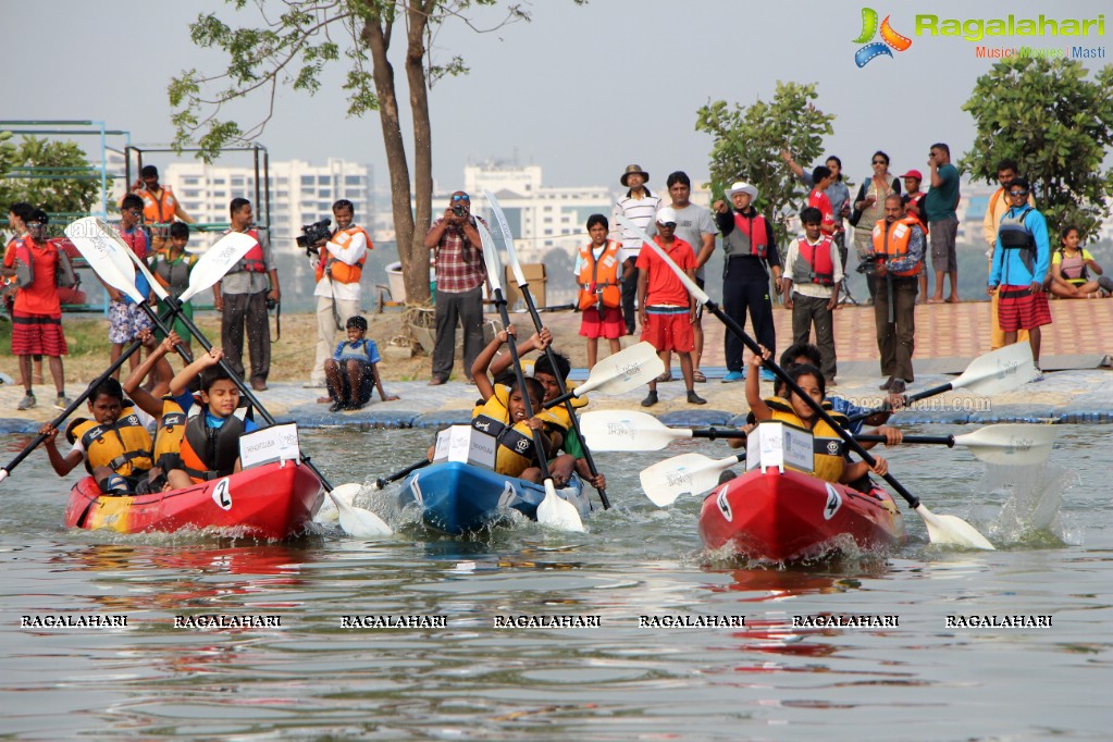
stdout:
<svg viewBox="0 0 1113 742">
<path fill-rule="evenodd" d="M 673 236 L 676 229 L 677 212 L 669 206 L 658 210 L 657 235 L 653 241 L 695 283 L 696 254 L 691 245 Z M 696 321 L 696 301 L 656 250 L 642 249 L 638 255 L 637 267 L 641 339 L 652 344 L 662 359 L 668 352 L 676 352 L 680 357 L 680 370 L 684 375 L 684 386 L 688 388 L 688 404 L 706 405 L 707 399 L 696 394 L 692 377 L 692 349 L 696 347 L 692 324 Z M 656 404 L 657 382 L 653 380 L 649 383 L 649 395 L 641 400 L 641 406 L 652 407 Z"/>
</svg>

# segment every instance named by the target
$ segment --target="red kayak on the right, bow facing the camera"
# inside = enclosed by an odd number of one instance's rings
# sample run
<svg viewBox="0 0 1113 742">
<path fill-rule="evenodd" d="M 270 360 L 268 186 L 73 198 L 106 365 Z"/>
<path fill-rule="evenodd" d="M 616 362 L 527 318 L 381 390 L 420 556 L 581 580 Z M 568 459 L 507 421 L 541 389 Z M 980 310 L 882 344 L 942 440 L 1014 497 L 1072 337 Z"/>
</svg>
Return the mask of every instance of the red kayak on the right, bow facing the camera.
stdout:
<svg viewBox="0 0 1113 742">
<path fill-rule="evenodd" d="M 770 468 L 747 472 L 708 495 L 699 533 L 710 550 L 791 562 L 839 551 L 847 537 L 863 551 L 888 550 L 904 541 L 904 521 L 884 489 L 865 494 Z"/>
</svg>

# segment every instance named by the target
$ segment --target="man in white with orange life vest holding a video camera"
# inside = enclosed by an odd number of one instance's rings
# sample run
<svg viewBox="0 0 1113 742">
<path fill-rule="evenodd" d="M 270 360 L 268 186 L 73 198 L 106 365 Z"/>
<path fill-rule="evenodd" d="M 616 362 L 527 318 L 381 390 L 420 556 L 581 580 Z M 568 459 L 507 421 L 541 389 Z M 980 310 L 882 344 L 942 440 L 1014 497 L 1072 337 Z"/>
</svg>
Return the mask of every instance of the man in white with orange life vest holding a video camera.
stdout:
<svg viewBox="0 0 1113 742">
<path fill-rule="evenodd" d="M 359 311 L 359 278 L 374 249 L 371 236 L 354 222 L 355 207 L 346 198 L 333 204 L 336 231 L 328 219 L 302 227 L 297 244 L 313 263 L 317 277 L 317 355 L 309 374 L 309 386 L 325 386 L 325 360 L 332 358 L 336 333 L 344 330 L 349 317 Z"/>
</svg>

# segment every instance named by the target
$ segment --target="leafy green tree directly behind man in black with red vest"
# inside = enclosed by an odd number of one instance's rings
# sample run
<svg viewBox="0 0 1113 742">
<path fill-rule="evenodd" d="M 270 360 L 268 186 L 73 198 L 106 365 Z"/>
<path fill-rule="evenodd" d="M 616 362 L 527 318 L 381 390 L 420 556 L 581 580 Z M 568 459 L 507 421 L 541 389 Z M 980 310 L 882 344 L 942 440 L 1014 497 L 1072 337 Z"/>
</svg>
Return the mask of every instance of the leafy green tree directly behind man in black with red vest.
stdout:
<svg viewBox="0 0 1113 742">
<path fill-rule="evenodd" d="M 777 82 L 772 101 L 751 106 L 717 100 L 697 112 L 696 130 L 713 138 L 711 191 L 722 198 L 735 180 L 758 187 L 756 207 L 774 222 L 778 241 L 787 238 L 786 222 L 799 212 L 808 189 L 780 158 L 787 149 L 804 167 L 818 160 L 825 136 L 834 131 L 835 116 L 816 108 L 816 85 Z"/>
</svg>

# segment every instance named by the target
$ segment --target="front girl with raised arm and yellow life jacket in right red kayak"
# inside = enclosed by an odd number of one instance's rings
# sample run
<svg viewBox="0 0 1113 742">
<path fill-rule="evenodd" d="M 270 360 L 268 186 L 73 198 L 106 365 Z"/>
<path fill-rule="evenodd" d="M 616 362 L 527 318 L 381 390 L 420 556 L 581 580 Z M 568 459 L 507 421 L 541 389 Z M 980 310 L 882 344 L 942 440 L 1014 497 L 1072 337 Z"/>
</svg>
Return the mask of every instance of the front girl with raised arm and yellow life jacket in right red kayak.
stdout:
<svg viewBox="0 0 1113 742">
<path fill-rule="evenodd" d="M 875 457 L 876 464 L 874 467 L 870 467 L 865 462 L 850 463 L 847 459 L 845 442 L 839 436 L 838 431 L 819 417 L 815 409 L 798 397 L 790 388 L 785 392 L 785 397 L 761 398 L 759 372 L 761 363 L 768 360 L 771 355 L 767 348 L 762 347 L 760 357 L 752 356 L 750 358 L 750 366 L 752 368 L 750 368 L 750 373 L 746 378 L 746 402 L 750 405 L 750 412 L 754 414 L 755 421 L 757 423 L 780 421 L 810 431 L 816 442 L 812 475 L 820 479 L 836 484 L 850 484 L 866 476 L 869 472 L 885 476 L 889 471 L 889 465 L 880 456 Z M 805 394 L 823 406 L 827 387 L 824 375 L 818 368 L 810 364 L 795 366 L 788 372 L 788 376 L 796 382 L 797 386 Z M 837 414 L 831 415 L 828 413 L 828 416 L 836 424 L 846 419 Z M 895 428 L 879 429 L 879 432 L 889 438 L 886 445 L 896 445 L 900 441 L 900 432 Z"/>
</svg>

